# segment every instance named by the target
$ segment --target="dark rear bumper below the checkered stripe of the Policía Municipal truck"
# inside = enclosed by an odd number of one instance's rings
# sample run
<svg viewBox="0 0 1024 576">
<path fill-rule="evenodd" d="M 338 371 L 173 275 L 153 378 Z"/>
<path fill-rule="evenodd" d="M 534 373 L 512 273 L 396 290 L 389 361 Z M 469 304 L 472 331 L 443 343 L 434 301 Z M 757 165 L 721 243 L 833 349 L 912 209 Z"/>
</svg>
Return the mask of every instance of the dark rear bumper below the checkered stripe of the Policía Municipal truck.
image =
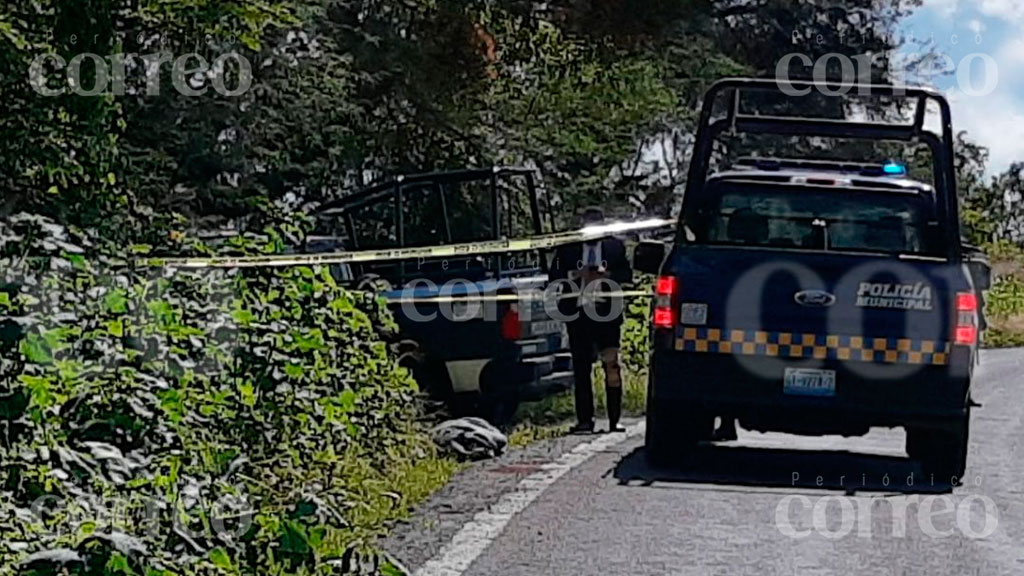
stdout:
<svg viewBox="0 0 1024 576">
<path fill-rule="evenodd" d="M 958 366 L 953 359 L 951 366 Z M 652 356 L 648 402 L 699 405 L 752 429 L 861 434 L 869 426 L 928 426 L 963 416 L 970 370 L 659 351 Z M 836 372 L 835 396 L 785 394 L 784 371 Z M 957 373 L 961 372 L 961 373 Z"/>
</svg>

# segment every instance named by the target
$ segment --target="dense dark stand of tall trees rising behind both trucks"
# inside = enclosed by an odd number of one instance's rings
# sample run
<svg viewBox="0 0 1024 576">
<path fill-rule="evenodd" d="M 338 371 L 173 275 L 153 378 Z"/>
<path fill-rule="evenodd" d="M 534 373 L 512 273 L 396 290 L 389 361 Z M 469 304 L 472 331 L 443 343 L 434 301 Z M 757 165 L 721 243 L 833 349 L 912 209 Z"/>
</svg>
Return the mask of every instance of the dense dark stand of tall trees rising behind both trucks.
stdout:
<svg viewBox="0 0 1024 576">
<path fill-rule="evenodd" d="M 915 3 L 8 4 L 0 19 L 0 93 L 11 101 L 0 113 L 0 173 L 13 182 L 5 210 L 160 243 L 182 227 L 258 227 L 281 199 L 319 201 L 397 173 L 466 165 L 536 165 L 565 211 L 632 202 L 668 212 L 711 82 L 774 74 L 794 50 L 872 50 L 882 78 L 888 33 Z M 89 44 L 72 44 L 75 32 Z M 159 95 L 137 65 L 117 96 L 44 98 L 26 81 L 35 54 L 70 59 L 86 48 L 208 61 L 236 53 L 252 65 L 253 83 L 224 97 L 209 90 L 218 71 L 197 73 L 186 80 L 207 90 L 185 95 L 169 89 L 169 64 Z M 58 84 L 50 74 L 48 86 Z"/>
</svg>

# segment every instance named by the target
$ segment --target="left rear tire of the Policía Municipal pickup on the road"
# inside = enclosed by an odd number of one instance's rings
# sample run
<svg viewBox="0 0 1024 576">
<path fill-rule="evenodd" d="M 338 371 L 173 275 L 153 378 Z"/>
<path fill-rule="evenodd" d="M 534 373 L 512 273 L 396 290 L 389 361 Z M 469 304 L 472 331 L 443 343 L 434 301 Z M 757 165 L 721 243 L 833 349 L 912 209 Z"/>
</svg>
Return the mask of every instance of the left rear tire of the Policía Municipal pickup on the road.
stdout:
<svg viewBox="0 0 1024 576">
<path fill-rule="evenodd" d="M 655 465 L 678 463 L 712 434 L 715 417 L 688 403 L 647 403 L 644 452 Z"/>
</svg>

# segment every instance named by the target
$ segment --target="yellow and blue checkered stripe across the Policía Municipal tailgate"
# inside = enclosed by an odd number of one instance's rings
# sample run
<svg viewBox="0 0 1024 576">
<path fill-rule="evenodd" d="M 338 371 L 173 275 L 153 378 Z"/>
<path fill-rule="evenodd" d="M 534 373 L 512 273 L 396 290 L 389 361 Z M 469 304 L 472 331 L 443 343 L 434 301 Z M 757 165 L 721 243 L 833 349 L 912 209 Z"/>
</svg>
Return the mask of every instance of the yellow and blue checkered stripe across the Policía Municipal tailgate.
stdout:
<svg viewBox="0 0 1024 576">
<path fill-rule="evenodd" d="M 683 328 L 676 338 L 680 352 L 876 364 L 944 366 L 950 348 L 949 342 L 939 340 L 717 328 Z"/>
</svg>

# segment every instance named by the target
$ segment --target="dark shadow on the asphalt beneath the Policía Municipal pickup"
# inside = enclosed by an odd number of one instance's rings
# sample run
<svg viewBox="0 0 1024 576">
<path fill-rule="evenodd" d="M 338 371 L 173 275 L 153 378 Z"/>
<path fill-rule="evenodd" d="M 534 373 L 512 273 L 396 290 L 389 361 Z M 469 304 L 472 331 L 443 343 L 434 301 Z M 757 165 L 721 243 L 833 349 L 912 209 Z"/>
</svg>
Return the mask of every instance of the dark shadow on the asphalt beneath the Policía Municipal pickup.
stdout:
<svg viewBox="0 0 1024 576">
<path fill-rule="evenodd" d="M 643 447 L 624 457 L 613 470 L 621 485 L 655 483 L 942 494 L 952 490 L 907 458 L 846 451 L 784 450 L 707 444 L 675 466 L 647 462 Z"/>
</svg>

